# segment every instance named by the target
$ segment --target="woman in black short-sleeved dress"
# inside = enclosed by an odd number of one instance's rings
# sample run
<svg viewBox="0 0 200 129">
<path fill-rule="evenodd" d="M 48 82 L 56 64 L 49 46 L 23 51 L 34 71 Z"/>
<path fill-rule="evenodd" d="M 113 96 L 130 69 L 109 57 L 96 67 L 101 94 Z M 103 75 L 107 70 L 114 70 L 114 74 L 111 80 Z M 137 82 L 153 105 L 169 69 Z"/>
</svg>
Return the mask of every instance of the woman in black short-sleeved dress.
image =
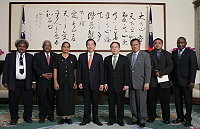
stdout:
<svg viewBox="0 0 200 129">
<path fill-rule="evenodd" d="M 70 44 L 64 42 L 61 46 L 62 53 L 57 56 L 54 64 L 54 88 L 56 90 L 56 112 L 62 119 L 58 124 L 72 124 L 70 115 L 75 113 L 74 89 L 76 85 L 75 55 L 69 53 Z"/>
</svg>

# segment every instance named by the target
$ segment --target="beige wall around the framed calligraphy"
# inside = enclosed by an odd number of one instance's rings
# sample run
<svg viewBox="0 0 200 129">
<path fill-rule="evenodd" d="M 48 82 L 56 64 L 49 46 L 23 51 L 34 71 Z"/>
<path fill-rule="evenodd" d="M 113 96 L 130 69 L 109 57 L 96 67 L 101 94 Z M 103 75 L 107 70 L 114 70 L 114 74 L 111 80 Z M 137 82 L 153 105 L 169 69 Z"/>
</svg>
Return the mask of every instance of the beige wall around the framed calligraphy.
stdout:
<svg viewBox="0 0 200 129">
<path fill-rule="evenodd" d="M 9 1 L 19 2 L 19 0 L 0 0 L 0 49 L 8 53 L 8 33 L 9 33 Z M 26 2 L 39 2 L 39 0 L 26 0 Z M 43 0 L 43 2 L 55 2 L 55 0 Z M 59 0 L 60 2 L 83 2 L 83 0 Z M 22 1 L 21 1 L 22 2 Z M 58 1 L 56 1 L 58 2 Z M 167 50 L 171 51 L 176 47 L 176 40 L 179 36 L 187 38 L 188 46 L 194 47 L 194 8 L 193 0 L 85 0 L 84 2 L 146 2 L 146 3 L 166 3 L 166 44 Z M 156 37 L 154 37 L 156 38 Z M 75 53 L 78 56 L 79 53 Z M 109 53 L 102 53 L 103 56 Z M 126 53 L 124 53 L 126 54 Z M 0 56 L 4 60 L 5 54 Z"/>
</svg>

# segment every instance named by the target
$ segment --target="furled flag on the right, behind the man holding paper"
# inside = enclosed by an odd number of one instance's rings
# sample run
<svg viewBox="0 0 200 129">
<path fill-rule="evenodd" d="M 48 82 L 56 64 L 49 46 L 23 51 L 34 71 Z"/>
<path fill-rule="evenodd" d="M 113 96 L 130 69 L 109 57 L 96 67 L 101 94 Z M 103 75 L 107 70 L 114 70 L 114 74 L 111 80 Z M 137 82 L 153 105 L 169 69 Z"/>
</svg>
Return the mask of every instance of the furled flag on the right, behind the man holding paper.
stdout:
<svg viewBox="0 0 200 129">
<path fill-rule="evenodd" d="M 150 7 L 149 11 L 149 51 L 153 50 L 153 23 L 152 23 L 152 11 Z"/>
</svg>

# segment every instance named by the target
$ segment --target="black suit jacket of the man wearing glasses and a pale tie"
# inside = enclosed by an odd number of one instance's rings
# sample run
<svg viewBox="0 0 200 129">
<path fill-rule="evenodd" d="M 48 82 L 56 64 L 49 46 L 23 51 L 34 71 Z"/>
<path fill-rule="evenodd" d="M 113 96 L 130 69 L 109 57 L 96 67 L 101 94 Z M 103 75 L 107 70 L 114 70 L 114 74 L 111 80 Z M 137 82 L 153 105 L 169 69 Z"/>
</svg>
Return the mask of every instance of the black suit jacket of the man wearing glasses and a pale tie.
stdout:
<svg viewBox="0 0 200 129">
<path fill-rule="evenodd" d="M 122 92 L 124 86 L 130 84 L 129 61 L 126 56 L 119 55 L 115 69 L 112 66 L 112 55 L 105 57 L 105 84 L 109 92 Z"/>
</svg>

